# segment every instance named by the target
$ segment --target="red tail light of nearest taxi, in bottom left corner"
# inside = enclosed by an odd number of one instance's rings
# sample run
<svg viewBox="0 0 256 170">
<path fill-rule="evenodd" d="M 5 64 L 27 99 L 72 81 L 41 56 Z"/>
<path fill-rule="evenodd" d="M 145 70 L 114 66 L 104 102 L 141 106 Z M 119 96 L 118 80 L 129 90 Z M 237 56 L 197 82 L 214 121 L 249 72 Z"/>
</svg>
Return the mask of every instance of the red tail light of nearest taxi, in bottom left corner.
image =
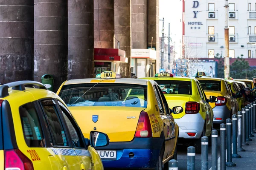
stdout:
<svg viewBox="0 0 256 170">
<path fill-rule="evenodd" d="M 5 170 L 34 170 L 32 161 L 20 150 L 5 150 Z"/>
</svg>

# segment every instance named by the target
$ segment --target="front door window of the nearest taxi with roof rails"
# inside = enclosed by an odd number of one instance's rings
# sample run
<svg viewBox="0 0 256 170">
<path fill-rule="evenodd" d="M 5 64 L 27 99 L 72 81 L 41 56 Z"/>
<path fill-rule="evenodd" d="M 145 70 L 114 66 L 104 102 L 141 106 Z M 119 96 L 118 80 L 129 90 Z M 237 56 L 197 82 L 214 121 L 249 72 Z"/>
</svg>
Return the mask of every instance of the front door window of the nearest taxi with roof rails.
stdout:
<svg viewBox="0 0 256 170">
<path fill-rule="evenodd" d="M 70 133 L 70 137 L 72 139 L 72 142 L 75 147 L 84 147 L 83 140 L 81 139 L 81 133 L 79 131 L 79 127 L 75 123 L 72 116 L 70 116 L 70 113 L 65 109 L 64 105 L 58 101 L 58 104 L 60 105 L 62 115 L 65 119 L 65 122 L 67 124 L 67 128 Z"/>
</svg>

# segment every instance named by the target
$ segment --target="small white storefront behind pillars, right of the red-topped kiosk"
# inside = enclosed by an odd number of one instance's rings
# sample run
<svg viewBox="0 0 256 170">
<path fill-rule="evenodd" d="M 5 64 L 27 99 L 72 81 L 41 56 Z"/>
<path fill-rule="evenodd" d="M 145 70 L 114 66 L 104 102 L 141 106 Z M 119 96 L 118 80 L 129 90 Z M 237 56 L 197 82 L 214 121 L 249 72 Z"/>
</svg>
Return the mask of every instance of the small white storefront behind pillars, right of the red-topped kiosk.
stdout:
<svg viewBox="0 0 256 170">
<path fill-rule="evenodd" d="M 157 51 L 131 49 L 131 72 L 138 78 L 153 77 L 156 74 Z"/>
</svg>

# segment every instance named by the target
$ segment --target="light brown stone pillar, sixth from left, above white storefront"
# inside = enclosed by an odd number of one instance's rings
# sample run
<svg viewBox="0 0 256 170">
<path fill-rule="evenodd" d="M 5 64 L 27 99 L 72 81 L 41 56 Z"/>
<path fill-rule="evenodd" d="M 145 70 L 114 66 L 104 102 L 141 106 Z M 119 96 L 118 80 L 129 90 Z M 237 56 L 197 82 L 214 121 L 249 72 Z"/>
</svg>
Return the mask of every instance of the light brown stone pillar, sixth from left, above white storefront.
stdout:
<svg viewBox="0 0 256 170">
<path fill-rule="evenodd" d="M 148 48 L 148 0 L 132 0 L 131 5 L 132 48 Z"/>
</svg>

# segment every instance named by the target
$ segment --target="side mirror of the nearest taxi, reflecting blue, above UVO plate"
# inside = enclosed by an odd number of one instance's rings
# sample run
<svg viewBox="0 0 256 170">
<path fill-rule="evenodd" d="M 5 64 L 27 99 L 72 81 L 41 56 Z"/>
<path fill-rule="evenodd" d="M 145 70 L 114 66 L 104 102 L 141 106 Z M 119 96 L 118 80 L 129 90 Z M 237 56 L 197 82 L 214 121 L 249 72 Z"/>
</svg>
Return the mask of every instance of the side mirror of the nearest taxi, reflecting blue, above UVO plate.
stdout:
<svg viewBox="0 0 256 170">
<path fill-rule="evenodd" d="M 109 144 L 108 135 L 102 132 L 90 132 L 90 145 L 92 147 L 104 147 Z"/>
</svg>

